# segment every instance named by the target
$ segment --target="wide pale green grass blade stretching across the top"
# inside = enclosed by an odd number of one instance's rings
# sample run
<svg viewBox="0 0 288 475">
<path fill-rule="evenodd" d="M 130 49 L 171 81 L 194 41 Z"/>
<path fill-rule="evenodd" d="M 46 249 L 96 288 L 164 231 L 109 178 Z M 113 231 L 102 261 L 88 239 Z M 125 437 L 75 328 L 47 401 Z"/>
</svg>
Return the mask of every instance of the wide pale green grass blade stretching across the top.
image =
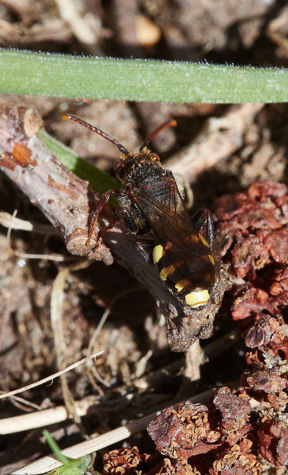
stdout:
<svg viewBox="0 0 288 475">
<path fill-rule="evenodd" d="M 0 92 L 125 101 L 288 102 L 288 70 L 0 49 Z"/>
</svg>

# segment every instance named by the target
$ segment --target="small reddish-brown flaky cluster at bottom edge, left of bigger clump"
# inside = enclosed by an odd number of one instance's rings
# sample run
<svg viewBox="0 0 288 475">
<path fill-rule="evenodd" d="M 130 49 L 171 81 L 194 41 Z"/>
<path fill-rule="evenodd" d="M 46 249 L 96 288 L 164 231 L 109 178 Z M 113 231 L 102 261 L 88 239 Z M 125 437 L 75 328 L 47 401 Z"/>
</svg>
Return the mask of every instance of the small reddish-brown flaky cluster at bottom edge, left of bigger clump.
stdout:
<svg viewBox="0 0 288 475">
<path fill-rule="evenodd" d="M 146 455 L 146 454 L 145 454 Z M 141 459 L 137 447 L 111 450 L 103 456 L 102 475 L 130 475 L 134 472 Z"/>
</svg>

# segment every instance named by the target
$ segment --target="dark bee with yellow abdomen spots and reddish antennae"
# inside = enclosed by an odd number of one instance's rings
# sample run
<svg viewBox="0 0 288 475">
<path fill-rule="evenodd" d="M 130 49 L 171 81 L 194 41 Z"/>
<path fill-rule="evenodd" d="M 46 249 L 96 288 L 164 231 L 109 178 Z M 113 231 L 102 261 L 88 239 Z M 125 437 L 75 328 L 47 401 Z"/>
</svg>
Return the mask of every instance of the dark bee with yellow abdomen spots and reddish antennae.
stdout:
<svg viewBox="0 0 288 475">
<path fill-rule="evenodd" d="M 221 304 L 221 258 L 215 246 L 210 211 L 201 209 L 190 217 L 172 171 L 165 170 L 158 155 L 148 148 L 148 143 L 157 133 L 168 125 L 176 125 L 176 122 L 165 123 L 145 140 L 139 151 L 128 152 L 110 135 L 82 119 L 74 115 L 63 118 L 100 134 L 121 152 L 114 171 L 122 183 L 122 190 L 107 191 L 100 198 L 87 245 L 98 214 L 112 194 L 120 208 L 116 209 L 97 246 L 109 229 L 123 222 L 133 234 L 148 234 L 149 239 L 138 240 L 135 246 L 146 260 L 152 254 L 160 279 L 175 297 L 192 308 L 202 307 L 209 300 Z"/>
</svg>

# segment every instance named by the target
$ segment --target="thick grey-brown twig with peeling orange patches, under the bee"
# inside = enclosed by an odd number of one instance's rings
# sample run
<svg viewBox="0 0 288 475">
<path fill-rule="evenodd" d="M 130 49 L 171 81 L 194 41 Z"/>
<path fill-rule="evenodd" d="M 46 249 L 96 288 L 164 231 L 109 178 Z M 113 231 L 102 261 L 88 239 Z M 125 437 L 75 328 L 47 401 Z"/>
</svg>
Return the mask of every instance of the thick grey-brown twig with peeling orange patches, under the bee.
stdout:
<svg viewBox="0 0 288 475">
<path fill-rule="evenodd" d="M 168 342 L 173 351 L 184 351 L 197 336 L 209 338 L 219 307 L 209 301 L 202 310 L 191 309 L 174 298 L 161 282 L 158 271 L 139 255 L 134 246 L 137 237 L 127 235 L 121 228 L 107 233 L 104 242 L 93 252 L 99 227 L 107 222 L 105 218 L 99 219 L 90 246 L 86 246 L 89 222 L 97 203 L 88 181 L 67 170 L 37 135 L 27 136 L 24 107 L 2 100 L 0 112 L 0 169 L 58 229 L 67 250 L 103 260 L 106 265 L 113 262 L 112 252 L 156 299 L 167 321 Z"/>
</svg>

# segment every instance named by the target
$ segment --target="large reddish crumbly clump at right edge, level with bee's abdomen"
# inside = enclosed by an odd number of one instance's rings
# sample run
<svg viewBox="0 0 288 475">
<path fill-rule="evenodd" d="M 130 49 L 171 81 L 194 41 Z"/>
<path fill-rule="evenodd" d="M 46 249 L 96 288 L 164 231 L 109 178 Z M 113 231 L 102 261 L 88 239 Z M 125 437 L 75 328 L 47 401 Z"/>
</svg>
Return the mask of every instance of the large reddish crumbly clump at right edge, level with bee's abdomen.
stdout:
<svg viewBox="0 0 288 475">
<path fill-rule="evenodd" d="M 238 277 L 265 265 L 288 260 L 288 197 L 284 184 L 252 183 L 246 193 L 221 198 L 216 204 L 221 256 Z"/>
</svg>

